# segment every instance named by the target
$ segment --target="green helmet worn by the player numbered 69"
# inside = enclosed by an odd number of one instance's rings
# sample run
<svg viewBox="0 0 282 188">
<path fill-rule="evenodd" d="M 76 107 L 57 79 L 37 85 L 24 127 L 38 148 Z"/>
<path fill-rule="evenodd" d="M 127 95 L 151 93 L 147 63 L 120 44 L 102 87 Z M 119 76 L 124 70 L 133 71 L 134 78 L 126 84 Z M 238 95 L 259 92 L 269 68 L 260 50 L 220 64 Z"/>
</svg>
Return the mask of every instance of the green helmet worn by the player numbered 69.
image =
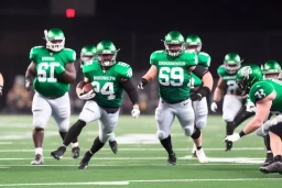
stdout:
<svg viewBox="0 0 282 188">
<path fill-rule="evenodd" d="M 166 34 L 163 43 L 165 52 L 169 56 L 176 57 L 185 49 L 184 37 L 177 31 L 171 31 L 169 34 Z"/>
</svg>

